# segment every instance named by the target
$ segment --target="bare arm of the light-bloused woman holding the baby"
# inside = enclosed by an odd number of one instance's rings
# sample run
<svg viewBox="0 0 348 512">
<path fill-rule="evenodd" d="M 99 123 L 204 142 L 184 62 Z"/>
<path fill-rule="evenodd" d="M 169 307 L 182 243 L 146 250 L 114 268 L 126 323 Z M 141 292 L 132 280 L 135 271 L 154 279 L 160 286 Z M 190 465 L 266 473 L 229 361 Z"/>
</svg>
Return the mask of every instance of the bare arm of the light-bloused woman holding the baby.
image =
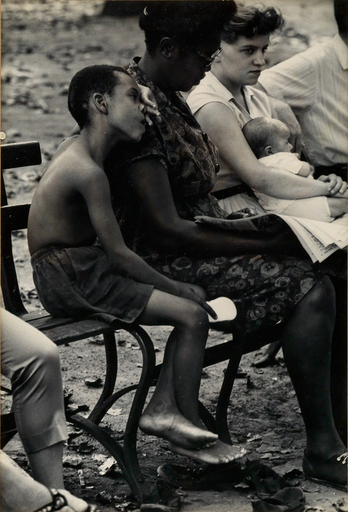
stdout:
<svg viewBox="0 0 348 512">
<path fill-rule="evenodd" d="M 207 103 L 198 111 L 196 118 L 218 147 L 222 159 L 254 190 L 279 199 L 331 195 L 328 183 L 304 180 L 259 163 L 244 138 L 236 116 L 226 105 Z M 333 193 L 339 188 L 335 188 Z"/>
</svg>

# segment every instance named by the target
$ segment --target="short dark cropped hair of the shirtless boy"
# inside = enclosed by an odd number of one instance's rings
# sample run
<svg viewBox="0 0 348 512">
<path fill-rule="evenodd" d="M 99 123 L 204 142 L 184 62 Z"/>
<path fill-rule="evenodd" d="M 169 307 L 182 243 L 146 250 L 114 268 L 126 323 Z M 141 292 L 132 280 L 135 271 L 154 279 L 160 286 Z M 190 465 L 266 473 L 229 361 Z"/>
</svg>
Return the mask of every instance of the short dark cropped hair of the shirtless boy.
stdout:
<svg viewBox="0 0 348 512">
<path fill-rule="evenodd" d="M 94 93 L 111 96 L 120 83 L 120 73 L 128 75 L 123 68 L 101 64 L 83 68 L 74 75 L 69 85 L 67 106 L 81 130 L 89 122 L 89 98 Z"/>
</svg>

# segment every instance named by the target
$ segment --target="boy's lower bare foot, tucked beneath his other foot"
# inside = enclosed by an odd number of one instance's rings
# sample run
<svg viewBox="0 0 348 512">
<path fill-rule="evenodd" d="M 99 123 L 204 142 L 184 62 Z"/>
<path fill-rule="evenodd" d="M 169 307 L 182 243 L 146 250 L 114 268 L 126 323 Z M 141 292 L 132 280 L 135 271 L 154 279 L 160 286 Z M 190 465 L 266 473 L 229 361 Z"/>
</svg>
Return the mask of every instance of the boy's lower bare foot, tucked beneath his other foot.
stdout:
<svg viewBox="0 0 348 512">
<path fill-rule="evenodd" d="M 206 464 L 226 464 L 227 462 L 241 459 L 246 455 L 245 448 L 240 449 L 237 446 L 226 444 L 220 441 L 220 439 L 216 441 L 214 446 L 202 448 L 201 450 L 187 450 L 173 443 L 169 443 L 169 447 L 179 455 L 184 455 Z"/>
</svg>

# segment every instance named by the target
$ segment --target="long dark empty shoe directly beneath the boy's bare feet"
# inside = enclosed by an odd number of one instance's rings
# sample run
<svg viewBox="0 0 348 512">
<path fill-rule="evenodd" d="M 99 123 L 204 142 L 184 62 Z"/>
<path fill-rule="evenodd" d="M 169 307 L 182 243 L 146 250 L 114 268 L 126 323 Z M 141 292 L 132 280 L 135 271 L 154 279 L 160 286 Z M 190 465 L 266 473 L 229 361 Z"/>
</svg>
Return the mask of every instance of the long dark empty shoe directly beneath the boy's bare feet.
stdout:
<svg viewBox="0 0 348 512">
<path fill-rule="evenodd" d="M 194 464 L 188 466 L 163 464 L 157 469 L 158 476 L 173 487 L 186 490 L 231 489 L 244 478 L 240 462 L 227 464 Z"/>
</svg>

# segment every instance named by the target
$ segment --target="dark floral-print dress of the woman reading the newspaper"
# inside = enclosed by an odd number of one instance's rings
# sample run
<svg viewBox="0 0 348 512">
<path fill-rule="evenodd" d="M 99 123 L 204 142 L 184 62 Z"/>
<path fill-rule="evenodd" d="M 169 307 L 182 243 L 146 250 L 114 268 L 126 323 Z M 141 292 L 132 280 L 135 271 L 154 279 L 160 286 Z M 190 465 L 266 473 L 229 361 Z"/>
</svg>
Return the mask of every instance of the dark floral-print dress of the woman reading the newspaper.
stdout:
<svg viewBox="0 0 348 512">
<path fill-rule="evenodd" d="M 233 258 L 221 254 L 218 258 L 199 259 L 187 257 L 180 247 L 175 253 L 164 253 L 151 244 L 151 226 L 143 222 L 127 186 L 127 163 L 157 158 L 163 164 L 181 218 L 223 218 L 225 214 L 210 195 L 218 170 L 216 147 L 202 132 L 180 93 L 173 92 L 169 100 L 137 66 L 137 59 L 132 60 L 129 71 L 138 83 L 153 91 L 163 122 L 147 126 L 140 143 L 125 144 L 121 154 L 117 148 L 107 162 L 126 243 L 168 278 L 200 285 L 208 300 L 218 296 L 231 298 L 237 308 L 231 331 L 250 334 L 274 326 L 331 269 L 313 265 L 309 259 L 265 254 Z"/>
</svg>

